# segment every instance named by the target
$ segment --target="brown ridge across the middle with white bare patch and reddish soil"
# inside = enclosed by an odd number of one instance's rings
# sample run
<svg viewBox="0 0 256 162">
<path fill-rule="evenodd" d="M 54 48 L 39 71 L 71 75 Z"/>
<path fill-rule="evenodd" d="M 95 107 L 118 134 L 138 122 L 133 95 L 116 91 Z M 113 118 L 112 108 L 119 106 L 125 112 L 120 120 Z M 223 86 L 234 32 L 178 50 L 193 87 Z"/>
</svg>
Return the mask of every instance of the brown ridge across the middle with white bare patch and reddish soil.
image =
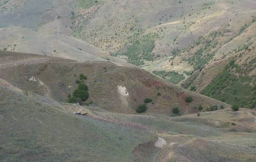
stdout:
<svg viewBox="0 0 256 162">
<path fill-rule="evenodd" d="M 15 57 L 16 61 L 13 62 Z M 24 64 L 22 57 L 27 60 Z M 37 57 L 45 59 L 36 61 Z M 30 59 L 34 61 L 29 62 Z M 0 65 L 2 79 L 23 90 L 27 86 L 29 91 L 58 102 L 67 102 L 68 96 L 78 86 L 76 82 L 80 80 L 80 74 L 84 74 L 89 89 L 87 102 L 112 112 L 135 113 L 147 97 L 153 100 L 148 103 L 146 111 L 151 114 L 171 115 L 174 107 L 180 108 L 183 114 L 198 112 L 200 105 L 203 111 L 215 106 L 220 109 L 221 105 L 229 107 L 215 99 L 175 86 L 145 70 L 120 67 L 111 62 L 78 63 L 4 51 L 1 51 L 0 60 L 4 62 L 4 65 Z M 187 101 L 189 97 L 191 101 Z"/>
</svg>

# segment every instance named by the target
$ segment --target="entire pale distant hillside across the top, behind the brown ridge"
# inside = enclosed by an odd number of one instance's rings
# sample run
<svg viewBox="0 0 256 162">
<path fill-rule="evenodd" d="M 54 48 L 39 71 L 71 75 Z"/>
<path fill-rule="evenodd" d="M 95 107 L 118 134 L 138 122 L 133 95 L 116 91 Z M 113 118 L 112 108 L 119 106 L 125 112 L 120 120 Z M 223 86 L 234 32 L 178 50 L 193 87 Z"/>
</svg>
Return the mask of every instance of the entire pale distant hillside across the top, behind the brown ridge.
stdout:
<svg viewBox="0 0 256 162">
<path fill-rule="evenodd" d="M 99 57 L 148 66 L 152 61 L 169 58 L 173 49 L 187 48 L 219 27 L 228 26 L 231 30 L 227 34 L 233 35 L 233 29 L 241 29 L 251 16 L 256 16 L 255 10 L 253 0 L 6 0 L 0 4 L 0 27 L 22 27 L 37 36 L 32 39 L 30 34 L 25 35 L 24 39 L 16 38 L 16 43 L 14 38 L 7 38 L 0 41 L 0 48 L 36 54 L 43 51 L 48 55 L 54 55 L 56 50 L 58 56 L 69 55 L 68 59 L 73 53 L 95 55 L 73 44 L 74 39 L 69 38 L 73 36 L 118 56 L 95 49 Z M 23 38 L 22 35 L 19 36 Z M 41 38 L 46 42 L 43 49 L 29 43 L 42 44 Z M 71 47 L 64 48 L 65 43 Z M 14 44 L 20 47 L 13 48 Z"/>
</svg>

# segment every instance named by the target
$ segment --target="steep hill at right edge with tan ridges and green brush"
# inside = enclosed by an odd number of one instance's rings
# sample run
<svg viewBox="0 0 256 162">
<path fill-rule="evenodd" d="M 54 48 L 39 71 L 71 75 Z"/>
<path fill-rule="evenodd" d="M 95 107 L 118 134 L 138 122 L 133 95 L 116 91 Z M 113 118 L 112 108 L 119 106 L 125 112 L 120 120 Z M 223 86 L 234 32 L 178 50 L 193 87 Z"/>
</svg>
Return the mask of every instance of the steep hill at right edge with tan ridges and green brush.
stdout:
<svg viewBox="0 0 256 162">
<path fill-rule="evenodd" d="M 201 37 L 166 67 L 183 62 L 192 66 L 183 88 L 229 104 L 256 108 L 256 17 L 240 29 L 220 27 Z M 229 35 L 227 30 L 233 30 Z M 171 65 L 172 64 L 172 65 Z"/>
</svg>

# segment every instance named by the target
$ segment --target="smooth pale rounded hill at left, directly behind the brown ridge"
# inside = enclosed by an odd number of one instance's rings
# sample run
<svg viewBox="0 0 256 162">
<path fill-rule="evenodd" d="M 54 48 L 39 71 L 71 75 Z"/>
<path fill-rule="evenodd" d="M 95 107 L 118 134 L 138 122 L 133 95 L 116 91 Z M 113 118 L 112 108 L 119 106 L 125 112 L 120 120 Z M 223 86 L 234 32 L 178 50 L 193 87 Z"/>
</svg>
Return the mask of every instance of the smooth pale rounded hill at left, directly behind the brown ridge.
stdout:
<svg viewBox="0 0 256 162">
<path fill-rule="evenodd" d="M 64 35 L 43 35 L 20 27 L 0 29 L 0 48 L 8 51 L 55 56 L 84 61 L 106 61 L 105 52 Z"/>
</svg>

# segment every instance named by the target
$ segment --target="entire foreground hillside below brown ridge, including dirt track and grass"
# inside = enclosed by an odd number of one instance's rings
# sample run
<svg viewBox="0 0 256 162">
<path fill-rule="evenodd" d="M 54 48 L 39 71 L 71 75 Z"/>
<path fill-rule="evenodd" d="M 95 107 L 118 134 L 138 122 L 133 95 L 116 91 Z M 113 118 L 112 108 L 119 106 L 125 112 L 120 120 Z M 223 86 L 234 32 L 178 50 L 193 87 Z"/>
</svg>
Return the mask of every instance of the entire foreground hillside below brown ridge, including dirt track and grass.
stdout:
<svg viewBox="0 0 256 162">
<path fill-rule="evenodd" d="M 0 158 L 4 161 L 252 162 L 256 159 L 255 112 L 245 109 L 178 118 L 116 114 L 76 104 L 59 104 L 32 92 L 27 97 L 4 80 L 0 80 L 0 94 L 3 123 Z M 88 115 L 73 114 L 78 110 Z M 239 117 L 235 121 L 237 126 L 227 122 L 227 114 Z M 242 130 L 245 123 L 252 127 Z"/>
</svg>

